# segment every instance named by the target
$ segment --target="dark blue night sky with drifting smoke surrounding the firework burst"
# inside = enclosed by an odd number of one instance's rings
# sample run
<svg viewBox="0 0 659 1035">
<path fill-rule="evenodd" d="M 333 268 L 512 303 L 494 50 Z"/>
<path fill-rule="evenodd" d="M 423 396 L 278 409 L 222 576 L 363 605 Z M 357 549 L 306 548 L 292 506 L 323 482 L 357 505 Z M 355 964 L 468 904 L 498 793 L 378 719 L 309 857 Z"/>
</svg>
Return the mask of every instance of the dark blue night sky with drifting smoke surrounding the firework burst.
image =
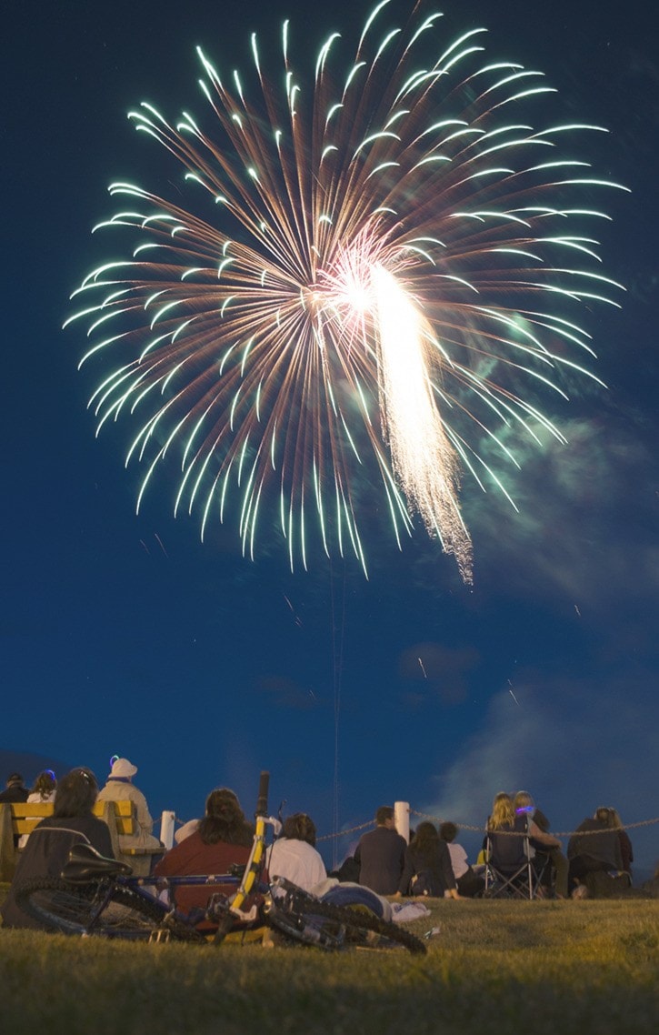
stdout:
<svg viewBox="0 0 659 1035">
<path fill-rule="evenodd" d="M 267 522 L 253 561 L 229 524 L 202 544 L 194 520 L 172 516 L 166 469 L 136 516 L 127 426 L 94 438 L 100 371 L 77 372 L 82 325 L 61 330 L 107 257 L 90 229 L 117 207 L 108 184 L 181 191 L 126 112 L 147 98 L 202 111 L 198 43 L 248 81 L 251 31 L 278 49 L 290 17 L 291 53 L 308 56 L 334 29 L 357 35 L 368 6 L 339 0 L 311 21 L 301 0 L 229 14 L 209 0 L 176 13 L 155 0 L 9 5 L 0 775 L 21 762 L 31 779 L 49 760 L 104 777 L 125 755 L 152 811 L 187 820 L 218 785 L 250 810 L 267 768 L 272 803 L 322 834 L 393 800 L 478 826 L 498 791 L 520 787 L 558 831 L 599 804 L 630 824 L 659 816 L 657 13 L 640 0 L 439 6 L 451 37 L 486 25 L 492 60 L 542 69 L 557 121 L 608 127 L 587 157 L 632 190 L 607 199 L 601 231 L 623 307 L 588 317 L 608 390 L 555 411 L 566 446 L 529 444 L 508 482 L 518 514 L 465 479 L 473 587 L 420 522 L 398 552 L 377 511 L 368 581 L 352 557 L 292 574 Z M 654 866 L 659 824 L 630 834 Z"/>
</svg>

